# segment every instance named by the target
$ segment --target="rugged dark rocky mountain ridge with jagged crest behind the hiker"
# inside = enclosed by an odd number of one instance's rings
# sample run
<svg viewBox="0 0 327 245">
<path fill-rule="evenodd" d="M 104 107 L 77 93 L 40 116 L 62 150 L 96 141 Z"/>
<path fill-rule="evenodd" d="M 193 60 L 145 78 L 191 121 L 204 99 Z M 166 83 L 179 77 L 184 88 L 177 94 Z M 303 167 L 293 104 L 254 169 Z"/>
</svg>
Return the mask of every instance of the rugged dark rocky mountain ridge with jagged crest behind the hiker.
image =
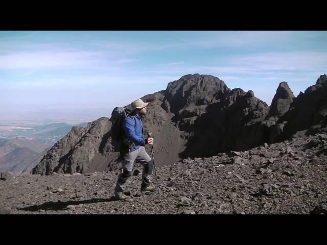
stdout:
<svg viewBox="0 0 327 245">
<path fill-rule="evenodd" d="M 289 139 L 303 130 L 312 134 L 327 122 L 326 81 L 326 75 L 320 76 L 314 87 L 297 97 L 282 82 L 269 107 L 252 90 L 230 90 L 211 75 L 186 75 L 170 82 L 166 90 L 142 97 L 150 102 L 143 118 L 144 133 L 153 132 L 158 166 L 187 157 L 245 151 Z M 110 137 L 110 127 L 107 117 L 86 128 L 74 127 L 43 157 L 33 174 L 117 170 L 119 147 Z"/>
</svg>

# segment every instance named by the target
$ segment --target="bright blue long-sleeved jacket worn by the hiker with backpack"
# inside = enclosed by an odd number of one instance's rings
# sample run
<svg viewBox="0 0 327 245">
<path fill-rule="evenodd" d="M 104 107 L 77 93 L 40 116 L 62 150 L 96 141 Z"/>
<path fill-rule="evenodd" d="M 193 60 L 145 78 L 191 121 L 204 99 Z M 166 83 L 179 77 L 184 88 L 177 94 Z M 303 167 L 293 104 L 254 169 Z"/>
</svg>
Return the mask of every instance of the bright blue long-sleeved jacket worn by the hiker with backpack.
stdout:
<svg viewBox="0 0 327 245">
<path fill-rule="evenodd" d="M 133 118 L 128 116 L 124 121 L 123 125 L 127 138 L 135 144 L 131 146 L 131 152 L 138 149 L 139 146 L 145 145 L 145 139 L 143 137 L 142 119 L 138 115 L 134 115 L 134 119 L 135 123 Z"/>
</svg>

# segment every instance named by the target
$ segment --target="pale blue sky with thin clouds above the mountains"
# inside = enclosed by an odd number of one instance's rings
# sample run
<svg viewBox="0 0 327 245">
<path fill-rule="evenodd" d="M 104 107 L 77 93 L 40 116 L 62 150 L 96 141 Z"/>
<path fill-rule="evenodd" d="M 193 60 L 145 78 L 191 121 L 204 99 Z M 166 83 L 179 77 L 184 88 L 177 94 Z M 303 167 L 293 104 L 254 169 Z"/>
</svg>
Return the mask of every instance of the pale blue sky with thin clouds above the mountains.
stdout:
<svg viewBox="0 0 327 245">
<path fill-rule="evenodd" d="M 270 105 L 280 82 L 296 96 L 327 73 L 327 32 L 0 31 L 0 111 L 97 119 L 196 73 Z"/>
</svg>

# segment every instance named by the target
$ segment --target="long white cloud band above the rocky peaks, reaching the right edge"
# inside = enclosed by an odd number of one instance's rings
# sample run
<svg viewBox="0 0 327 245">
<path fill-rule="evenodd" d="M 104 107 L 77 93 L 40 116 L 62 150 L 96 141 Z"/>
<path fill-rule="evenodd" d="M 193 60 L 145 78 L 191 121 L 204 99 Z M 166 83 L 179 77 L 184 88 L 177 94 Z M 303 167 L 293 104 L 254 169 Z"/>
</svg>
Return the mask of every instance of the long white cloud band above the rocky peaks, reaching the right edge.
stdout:
<svg viewBox="0 0 327 245">
<path fill-rule="evenodd" d="M 285 53 L 260 53 L 247 56 L 232 56 L 217 60 L 217 65 L 183 65 L 167 67 L 168 73 L 190 72 L 220 75 L 255 75 L 280 77 L 293 75 L 295 71 L 313 72 L 327 70 L 327 52 L 285 52 Z M 222 64 L 222 65 L 218 65 Z M 162 72 L 153 69 L 150 72 Z M 278 76 L 277 76 L 278 75 Z"/>
</svg>

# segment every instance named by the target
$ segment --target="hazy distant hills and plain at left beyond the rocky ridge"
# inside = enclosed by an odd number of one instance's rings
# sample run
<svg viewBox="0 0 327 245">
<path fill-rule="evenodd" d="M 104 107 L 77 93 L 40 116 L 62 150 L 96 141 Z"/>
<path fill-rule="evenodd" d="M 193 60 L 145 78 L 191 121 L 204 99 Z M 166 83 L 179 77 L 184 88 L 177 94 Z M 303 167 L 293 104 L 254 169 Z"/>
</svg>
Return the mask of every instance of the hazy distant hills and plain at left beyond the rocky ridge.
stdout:
<svg viewBox="0 0 327 245">
<path fill-rule="evenodd" d="M 51 146 L 63 138 L 72 127 L 85 127 L 87 122 L 68 125 L 64 122 L 33 128 L 0 127 L 0 172 L 15 176 L 29 174 Z"/>
</svg>

